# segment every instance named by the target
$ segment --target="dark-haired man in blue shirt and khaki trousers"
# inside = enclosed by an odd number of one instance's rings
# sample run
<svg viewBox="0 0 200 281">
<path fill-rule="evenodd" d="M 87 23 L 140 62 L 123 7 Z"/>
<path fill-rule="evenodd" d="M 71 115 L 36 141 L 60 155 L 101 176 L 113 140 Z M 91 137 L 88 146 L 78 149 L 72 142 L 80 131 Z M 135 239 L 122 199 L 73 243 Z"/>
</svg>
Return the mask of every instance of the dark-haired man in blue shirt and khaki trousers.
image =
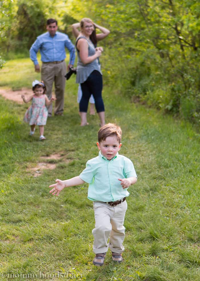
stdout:
<svg viewBox="0 0 200 281">
<path fill-rule="evenodd" d="M 35 71 L 40 72 L 37 61 L 37 52 L 41 54 L 41 80 L 44 81 L 46 94 L 49 99 L 52 96 L 53 83 L 55 85 L 55 108 L 54 115 L 63 115 L 64 93 L 65 93 L 65 74 L 69 67 L 73 67 L 75 61 L 75 47 L 69 37 L 58 32 L 58 25 L 55 19 L 47 20 L 47 32 L 37 37 L 30 48 L 30 58 L 35 65 Z M 65 48 L 70 52 L 69 65 L 66 68 Z M 48 116 L 52 115 L 52 104 L 47 107 Z"/>
</svg>

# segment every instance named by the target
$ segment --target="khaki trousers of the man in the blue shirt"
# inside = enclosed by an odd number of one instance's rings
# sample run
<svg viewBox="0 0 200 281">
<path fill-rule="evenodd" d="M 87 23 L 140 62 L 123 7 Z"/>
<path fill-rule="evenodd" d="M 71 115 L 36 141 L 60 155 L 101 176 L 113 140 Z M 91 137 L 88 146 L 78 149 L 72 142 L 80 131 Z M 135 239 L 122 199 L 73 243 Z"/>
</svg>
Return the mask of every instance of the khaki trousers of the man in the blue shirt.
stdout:
<svg viewBox="0 0 200 281">
<path fill-rule="evenodd" d="M 46 86 L 46 95 L 48 99 L 52 97 L 53 82 L 55 85 L 55 107 L 54 114 L 59 115 L 63 113 L 64 109 L 64 94 L 65 94 L 65 82 L 64 77 L 67 72 L 65 61 L 53 62 L 53 63 L 42 63 L 41 67 L 41 80 L 44 81 Z M 52 115 L 52 104 L 47 106 L 48 116 Z"/>
</svg>

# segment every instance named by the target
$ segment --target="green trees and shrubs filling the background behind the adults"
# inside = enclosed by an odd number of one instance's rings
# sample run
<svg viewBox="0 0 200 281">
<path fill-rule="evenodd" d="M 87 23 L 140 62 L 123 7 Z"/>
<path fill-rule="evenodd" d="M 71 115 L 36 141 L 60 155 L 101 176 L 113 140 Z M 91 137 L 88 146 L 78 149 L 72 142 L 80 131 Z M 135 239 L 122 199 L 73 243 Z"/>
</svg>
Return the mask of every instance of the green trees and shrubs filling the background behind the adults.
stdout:
<svg viewBox="0 0 200 281">
<path fill-rule="evenodd" d="M 1 37 L 7 51 L 28 50 L 48 17 L 56 17 L 67 32 L 76 20 L 91 17 L 111 31 L 101 42 L 106 83 L 134 101 L 200 122 L 199 1 L 13 0 L 11 8 L 0 18 L 8 27 Z"/>
</svg>

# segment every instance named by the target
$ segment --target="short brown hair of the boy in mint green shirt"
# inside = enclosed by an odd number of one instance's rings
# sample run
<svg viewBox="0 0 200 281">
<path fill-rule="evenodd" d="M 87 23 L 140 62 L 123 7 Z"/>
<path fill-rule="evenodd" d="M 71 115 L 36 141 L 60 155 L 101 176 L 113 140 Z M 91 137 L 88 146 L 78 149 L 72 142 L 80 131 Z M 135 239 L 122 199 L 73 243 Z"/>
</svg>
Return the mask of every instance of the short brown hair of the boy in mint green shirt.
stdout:
<svg viewBox="0 0 200 281">
<path fill-rule="evenodd" d="M 108 136 L 116 136 L 117 141 L 121 143 L 121 128 L 113 123 L 108 123 L 102 126 L 98 132 L 98 142 L 105 141 Z"/>
</svg>

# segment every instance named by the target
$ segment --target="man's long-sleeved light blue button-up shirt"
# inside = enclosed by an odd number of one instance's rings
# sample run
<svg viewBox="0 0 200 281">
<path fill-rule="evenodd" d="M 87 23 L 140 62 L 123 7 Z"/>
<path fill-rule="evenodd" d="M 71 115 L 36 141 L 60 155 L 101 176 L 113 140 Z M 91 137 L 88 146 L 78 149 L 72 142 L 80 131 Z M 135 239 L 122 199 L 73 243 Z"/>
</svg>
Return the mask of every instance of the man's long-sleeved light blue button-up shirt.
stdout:
<svg viewBox="0 0 200 281">
<path fill-rule="evenodd" d="M 65 47 L 70 52 L 70 64 L 73 65 L 75 61 L 75 47 L 67 34 L 56 32 L 51 37 L 49 32 L 46 32 L 38 36 L 31 46 L 30 58 L 34 65 L 37 65 L 37 52 L 40 50 L 42 62 L 63 61 L 66 58 Z"/>
</svg>

